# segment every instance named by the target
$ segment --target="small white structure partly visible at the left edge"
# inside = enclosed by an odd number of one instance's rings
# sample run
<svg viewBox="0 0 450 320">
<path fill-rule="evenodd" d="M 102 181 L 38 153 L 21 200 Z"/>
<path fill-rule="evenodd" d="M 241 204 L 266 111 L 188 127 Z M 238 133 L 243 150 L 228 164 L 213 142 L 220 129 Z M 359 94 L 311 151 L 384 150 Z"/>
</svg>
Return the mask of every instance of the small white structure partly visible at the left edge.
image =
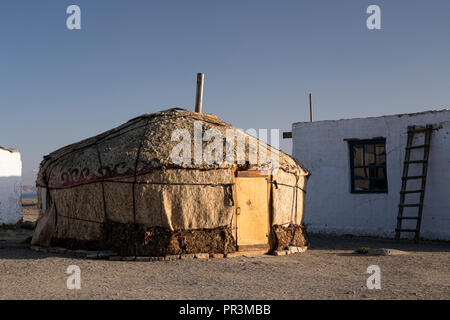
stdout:
<svg viewBox="0 0 450 320">
<path fill-rule="evenodd" d="M 16 150 L 0 147 L 0 225 L 22 220 L 22 161 Z"/>
</svg>

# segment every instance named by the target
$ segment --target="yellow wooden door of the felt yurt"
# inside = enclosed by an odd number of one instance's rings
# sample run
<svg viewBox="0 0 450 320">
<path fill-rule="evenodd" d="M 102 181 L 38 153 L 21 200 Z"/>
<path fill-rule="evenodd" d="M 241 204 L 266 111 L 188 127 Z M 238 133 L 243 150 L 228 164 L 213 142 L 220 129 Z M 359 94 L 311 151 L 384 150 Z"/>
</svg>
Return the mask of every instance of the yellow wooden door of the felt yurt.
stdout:
<svg viewBox="0 0 450 320">
<path fill-rule="evenodd" d="M 236 198 L 238 250 L 268 249 L 270 225 L 266 178 L 236 178 Z"/>
</svg>

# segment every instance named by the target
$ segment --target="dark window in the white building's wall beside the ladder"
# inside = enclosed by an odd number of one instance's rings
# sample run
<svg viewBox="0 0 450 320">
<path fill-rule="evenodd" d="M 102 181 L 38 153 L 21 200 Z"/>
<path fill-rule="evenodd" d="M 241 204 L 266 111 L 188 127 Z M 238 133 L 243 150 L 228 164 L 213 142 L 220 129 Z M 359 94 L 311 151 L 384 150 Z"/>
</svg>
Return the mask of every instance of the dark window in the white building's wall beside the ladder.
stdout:
<svg viewBox="0 0 450 320">
<path fill-rule="evenodd" d="M 352 193 L 387 193 L 386 139 L 349 141 Z"/>
</svg>

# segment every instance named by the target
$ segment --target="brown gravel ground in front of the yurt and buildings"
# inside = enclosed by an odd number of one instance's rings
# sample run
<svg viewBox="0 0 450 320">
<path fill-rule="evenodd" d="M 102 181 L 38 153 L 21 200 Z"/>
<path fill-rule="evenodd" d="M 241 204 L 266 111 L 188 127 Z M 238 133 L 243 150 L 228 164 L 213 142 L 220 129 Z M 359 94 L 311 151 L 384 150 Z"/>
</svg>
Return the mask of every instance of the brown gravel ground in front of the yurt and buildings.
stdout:
<svg viewBox="0 0 450 320">
<path fill-rule="evenodd" d="M 449 243 L 313 235 L 289 256 L 122 262 L 35 252 L 20 243 L 30 232 L 0 230 L 0 299 L 450 299 Z M 352 253 L 359 247 L 407 253 Z M 374 264 L 380 290 L 366 287 Z M 69 265 L 81 269 L 80 290 L 66 287 Z"/>
</svg>

